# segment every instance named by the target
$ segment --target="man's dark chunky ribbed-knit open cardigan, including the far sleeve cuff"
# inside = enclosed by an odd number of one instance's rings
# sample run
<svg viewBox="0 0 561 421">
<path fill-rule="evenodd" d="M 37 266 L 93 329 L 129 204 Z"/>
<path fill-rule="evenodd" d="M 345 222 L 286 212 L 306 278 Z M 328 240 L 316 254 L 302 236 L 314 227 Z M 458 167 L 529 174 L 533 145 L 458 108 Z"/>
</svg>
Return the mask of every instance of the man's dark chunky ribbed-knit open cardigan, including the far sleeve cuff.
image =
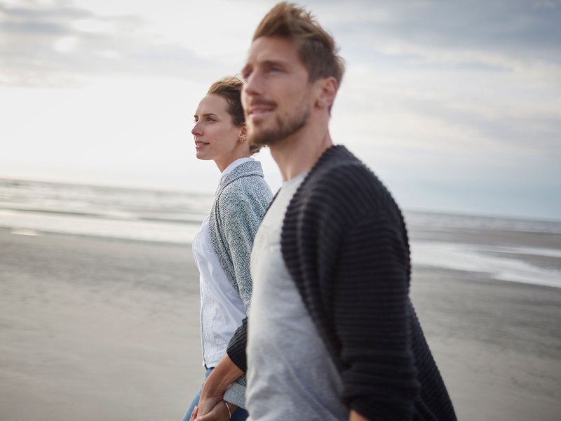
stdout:
<svg viewBox="0 0 561 421">
<path fill-rule="evenodd" d="M 280 246 L 349 408 L 370 420 L 456 420 L 409 299 L 403 216 L 345 147 L 327 149 L 300 185 Z M 245 371 L 247 335 L 237 338 L 228 354 Z"/>
</svg>

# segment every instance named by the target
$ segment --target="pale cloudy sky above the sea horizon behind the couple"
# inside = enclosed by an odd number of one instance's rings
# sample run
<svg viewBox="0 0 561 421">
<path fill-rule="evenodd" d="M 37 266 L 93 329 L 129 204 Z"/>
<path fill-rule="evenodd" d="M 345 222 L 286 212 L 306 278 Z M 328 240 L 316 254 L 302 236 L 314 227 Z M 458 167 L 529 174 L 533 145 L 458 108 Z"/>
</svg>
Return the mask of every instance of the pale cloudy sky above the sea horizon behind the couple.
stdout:
<svg viewBox="0 0 561 421">
<path fill-rule="evenodd" d="M 0 178 L 214 192 L 194 110 L 274 4 L 0 0 Z M 561 0 L 300 4 L 346 62 L 334 142 L 402 208 L 561 220 Z"/>
</svg>

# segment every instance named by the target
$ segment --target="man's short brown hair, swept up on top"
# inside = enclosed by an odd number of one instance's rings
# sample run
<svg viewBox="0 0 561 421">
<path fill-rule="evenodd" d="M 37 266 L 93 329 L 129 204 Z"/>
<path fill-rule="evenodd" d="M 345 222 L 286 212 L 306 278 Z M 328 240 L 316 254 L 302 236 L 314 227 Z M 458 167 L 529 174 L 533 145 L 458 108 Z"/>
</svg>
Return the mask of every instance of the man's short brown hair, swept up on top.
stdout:
<svg viewBox="0 0 561 421">
<path fill-rule="evenodd" d="M 340 84 L 345 72 L 343 59 L 333 37 L 320 27 L 309 11 L 283 1 L 269 11 L 253 34 L 253 41 L 262 36 L 280 36 L 295 41 L 300 60 L 309 72 L 309 81 L 333 76 Z"/>
</svg>

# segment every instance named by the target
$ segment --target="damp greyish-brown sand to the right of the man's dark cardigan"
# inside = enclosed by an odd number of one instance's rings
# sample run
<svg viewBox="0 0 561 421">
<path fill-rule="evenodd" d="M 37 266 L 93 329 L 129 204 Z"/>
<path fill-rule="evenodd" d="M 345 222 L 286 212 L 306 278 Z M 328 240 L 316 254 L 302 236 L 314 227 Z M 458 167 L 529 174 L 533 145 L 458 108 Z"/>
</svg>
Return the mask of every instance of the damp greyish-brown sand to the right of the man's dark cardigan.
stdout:
<svg viewBox="0 0 561 421">
<path fill-rule="evenodd" d="M 561 416 L 561 290 L 414 272 L 412 299 L 459 420 Z"/>
</svg>

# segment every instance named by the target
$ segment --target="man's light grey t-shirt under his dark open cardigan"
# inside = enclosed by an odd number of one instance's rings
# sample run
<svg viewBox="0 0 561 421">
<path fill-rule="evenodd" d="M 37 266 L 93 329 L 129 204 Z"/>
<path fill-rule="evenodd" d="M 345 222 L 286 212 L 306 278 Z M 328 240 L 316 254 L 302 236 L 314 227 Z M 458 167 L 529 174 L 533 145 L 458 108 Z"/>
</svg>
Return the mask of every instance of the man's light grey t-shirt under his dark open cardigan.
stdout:
<svg viewBox="0 0 561 421">
<path fill-rule="evenodd" d="M 285 182 L 253 244 L 248 319 L 250 420 L 348 420 L 342 380 L 280 253 L 288 203 L 306 173 Z"/>
</svg>

